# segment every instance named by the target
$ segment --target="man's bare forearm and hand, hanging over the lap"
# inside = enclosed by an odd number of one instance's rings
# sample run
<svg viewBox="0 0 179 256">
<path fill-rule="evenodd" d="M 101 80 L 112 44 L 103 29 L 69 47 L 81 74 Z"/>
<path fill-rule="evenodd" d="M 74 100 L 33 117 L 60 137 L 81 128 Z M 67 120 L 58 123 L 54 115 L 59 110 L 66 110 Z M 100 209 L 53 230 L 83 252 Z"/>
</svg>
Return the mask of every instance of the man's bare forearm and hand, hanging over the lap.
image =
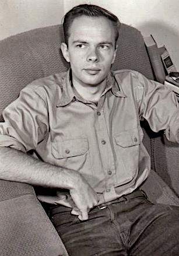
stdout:
<svg viewBox="0 0 179 256">
<path fill-rule="evenodd" d="M 88 219 L 88 212 L 97 205 L 97 193 L 77 171 L 44 163 L 26 153 L 0 148 L 0 178 L 31 185 L 69 190 L 80 220 Z"/>
</svg>

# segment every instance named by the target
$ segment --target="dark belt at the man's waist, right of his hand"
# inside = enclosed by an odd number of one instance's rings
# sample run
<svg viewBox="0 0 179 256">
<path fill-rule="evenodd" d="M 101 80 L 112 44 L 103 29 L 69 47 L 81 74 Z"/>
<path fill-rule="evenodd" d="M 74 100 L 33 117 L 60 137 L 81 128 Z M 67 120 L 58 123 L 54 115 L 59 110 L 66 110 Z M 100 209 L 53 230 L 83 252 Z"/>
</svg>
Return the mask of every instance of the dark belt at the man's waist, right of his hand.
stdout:
<svg viewBox="0 0 179 256">
<path fill-rule="evenodd" d="M 131 200 L 134 198 L 139 198 L 139 197 L 142 197 L 142 198 L 144 197 L 146 199 L 148 198 L 146 193 L 143 190 L 138 189 L 138 190 L 133 191 L 131 194 L 122 195 L 122 197 L 114 199 L 113 201 L 98 205 L 97 208 L 102 210 L 102 209 L 106 208 L 108 205 L 117 204 L 119 202 L 124 202 L 124 201 L 128 201 L 128 200 Z"/>
</svg>

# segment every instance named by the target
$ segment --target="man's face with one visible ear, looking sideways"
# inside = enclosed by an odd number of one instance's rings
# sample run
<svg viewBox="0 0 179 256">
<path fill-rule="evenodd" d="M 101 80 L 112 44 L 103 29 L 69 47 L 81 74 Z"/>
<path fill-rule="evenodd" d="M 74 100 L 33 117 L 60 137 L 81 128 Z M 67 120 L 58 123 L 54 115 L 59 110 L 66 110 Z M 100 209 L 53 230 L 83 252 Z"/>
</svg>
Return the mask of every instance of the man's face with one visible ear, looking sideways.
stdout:
<svg viewBox="0 0 179 256">
<path fill-rule="evenodd" d="M 61 49 L 71 64 L 73 85 L 100 85 L 115 59 L 113 24 L 106 17 L 78 17 L 71 24 L 68 47 L 62 43 Z"/>
</svg>

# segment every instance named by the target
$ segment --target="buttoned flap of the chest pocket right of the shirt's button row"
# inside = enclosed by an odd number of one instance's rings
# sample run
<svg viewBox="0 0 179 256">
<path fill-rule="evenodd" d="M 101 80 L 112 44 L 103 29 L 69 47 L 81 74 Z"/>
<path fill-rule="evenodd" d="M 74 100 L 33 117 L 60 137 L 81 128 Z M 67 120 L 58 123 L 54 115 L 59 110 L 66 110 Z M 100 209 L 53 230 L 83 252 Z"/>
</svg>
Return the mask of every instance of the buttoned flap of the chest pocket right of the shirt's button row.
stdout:
<svg viewBox="0 0 179 256">
<path fill-rule="evenodd" d="M 122 131 L 115 135 L 115 143 L 122 148 L 128 148 L 140 144 L 138 128 Z"/>
</svg>

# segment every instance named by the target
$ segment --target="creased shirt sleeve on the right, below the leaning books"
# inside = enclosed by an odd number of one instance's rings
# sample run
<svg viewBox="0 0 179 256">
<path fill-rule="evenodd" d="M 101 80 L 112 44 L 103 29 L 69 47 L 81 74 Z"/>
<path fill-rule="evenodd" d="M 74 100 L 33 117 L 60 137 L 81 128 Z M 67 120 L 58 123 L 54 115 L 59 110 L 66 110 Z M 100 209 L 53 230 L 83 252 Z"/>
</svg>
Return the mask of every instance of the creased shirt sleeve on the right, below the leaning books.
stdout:
<svg viewBox="0 0 179 256">
<path fill-rule="evenodd" d="M 179 143 L 179 108 L 172 90 L 138 75 L 139 115 L 148 121 L 154 132 L 165 131 L 166 138 Z"/>
</svg>

